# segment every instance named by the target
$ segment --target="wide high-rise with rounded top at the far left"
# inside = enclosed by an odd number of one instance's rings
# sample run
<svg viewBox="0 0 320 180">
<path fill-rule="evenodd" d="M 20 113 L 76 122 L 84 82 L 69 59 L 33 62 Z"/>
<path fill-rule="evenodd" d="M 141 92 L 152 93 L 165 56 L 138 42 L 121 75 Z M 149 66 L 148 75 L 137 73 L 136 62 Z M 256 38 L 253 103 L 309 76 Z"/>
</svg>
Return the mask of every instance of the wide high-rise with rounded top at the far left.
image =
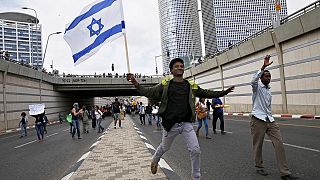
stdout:
<svg viewBox="0 0 320 180">
<path fill-rule="evenodd" d="M 10 59 L 42 67 L 41 25 L 35 17 L 17 13 L 0 13 L 0 50 Z"/>
</svg>

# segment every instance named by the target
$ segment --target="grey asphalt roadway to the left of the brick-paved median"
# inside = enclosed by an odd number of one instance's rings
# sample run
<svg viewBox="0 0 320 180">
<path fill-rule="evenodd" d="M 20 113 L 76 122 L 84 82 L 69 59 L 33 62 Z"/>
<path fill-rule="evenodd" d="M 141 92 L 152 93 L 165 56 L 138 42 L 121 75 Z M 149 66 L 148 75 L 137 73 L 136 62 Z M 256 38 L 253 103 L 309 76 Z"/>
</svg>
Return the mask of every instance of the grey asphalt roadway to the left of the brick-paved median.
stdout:
<svg viewBox="0 0 320 180">
<path fill-rule="evenodd" d="M 110 118 L 102 121 L 104 127 L 110 123 Z M 90 127 L 82 139 L 72 139 L 66 122 L 49 125 L 47 130 L 42 142 L 37 141 L 35 129 L 28 130 L 23 138 L 18 132 L 0 136 L 0 179 L 61 179 L 80 165 L 77 161 L 101 136 Z"/>
</svg>

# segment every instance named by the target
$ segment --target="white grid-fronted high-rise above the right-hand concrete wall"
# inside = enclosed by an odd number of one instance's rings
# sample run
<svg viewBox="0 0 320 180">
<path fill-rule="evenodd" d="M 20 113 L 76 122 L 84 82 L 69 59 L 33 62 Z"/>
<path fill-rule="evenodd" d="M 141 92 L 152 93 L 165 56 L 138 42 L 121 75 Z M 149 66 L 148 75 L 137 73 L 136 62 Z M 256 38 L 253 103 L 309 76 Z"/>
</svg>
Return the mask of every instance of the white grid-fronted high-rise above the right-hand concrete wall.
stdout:
<svg viewBox="0 0 320 180">
<path fill-rule="evenodd" d="M 201 3 L 205 5 L 203 2 L 207 1 L 213 1 L 218 50 L 223 50 L 272 25 L 271 17 L 273 20 L 276 19 L 275 0 L 201 0 Z M 279 2 L 280 19 L 283 19 L 288 14 L 286 0 Z M 203 5 L 201 6 L 203 9 Z M 203 15 L 202 18 L 212 17 Z"/>
</svg>

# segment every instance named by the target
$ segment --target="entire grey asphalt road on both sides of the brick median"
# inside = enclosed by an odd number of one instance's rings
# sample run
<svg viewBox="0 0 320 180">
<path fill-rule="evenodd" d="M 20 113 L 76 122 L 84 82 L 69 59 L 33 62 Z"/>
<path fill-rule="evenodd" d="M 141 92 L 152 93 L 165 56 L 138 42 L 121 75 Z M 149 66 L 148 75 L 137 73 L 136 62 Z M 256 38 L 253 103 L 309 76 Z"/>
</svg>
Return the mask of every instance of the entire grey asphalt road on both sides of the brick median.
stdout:
<svg viewBox="0 0 320 180">
<path fill-rule="evenodd" d="M 199 137 L 202 179 L 279 179 L 274 149 L 268 137 L 264 142 L 263 158 L 269 175 L 261 177 L 255 173 L 252 158 L 250 119 L 237 116 L 225 116 L 225 119 L 226 135 L 213 135 L 209 121 L 210 135 L 213 138 L 205 139 L 204 127 L 202 128 Z M 280 124 L 291 171 L 301 179 L 320 179 L 320 121 L 276 120 Z M 155 122 L 152 126 L 139 125 L 138 116 L 133 121 L 147 141 L 156 148 L 161 141 L 161 131 L 156 128 Z M 111 122 L 108 117 L 102 124 L 108 127 Z M 194 127 L 196 128 L 196 124 Z M 82 156 L 101 136 L 97 130 L 90 130 L 80 140 L 71 138 L 67 123 L 48 126 L 48 134 L 43 142 L 37 142 L 34 129 L 30 129 L 28 136 L 24 138 L 19 138 L 17 132 L 0 135 L 0 179 L 61 179 L 78 168 Z M 191 179 L 189 153 L 181 136 L 175 139 L 163 158 L 173 170 L 171 172 L 163 169 L 168 179 Z"/>
</svg>

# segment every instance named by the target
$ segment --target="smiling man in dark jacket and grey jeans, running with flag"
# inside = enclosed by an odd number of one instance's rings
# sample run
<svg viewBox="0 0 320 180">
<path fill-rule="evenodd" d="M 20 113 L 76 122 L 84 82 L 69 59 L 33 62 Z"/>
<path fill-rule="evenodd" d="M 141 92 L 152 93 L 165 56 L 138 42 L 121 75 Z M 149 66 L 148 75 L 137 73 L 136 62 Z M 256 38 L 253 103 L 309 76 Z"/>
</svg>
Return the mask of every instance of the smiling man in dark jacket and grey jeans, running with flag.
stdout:
<svg viewBox="0 0 320 180">
<path fill-rule="evenodd" d="M 209 91 L 201 89 L 197 84 L 183 79 L 184 62 L 180 58 L 171 60 L 169 64 L 173 79 L 165 79 L 160 84 L 144 88 L 132 74 L 127 80 L 137 88 L 140 95 L 155 101 L 161 101 L 159 115 L 162 117 L 162 142 L 153 155 L 151 172 L 157 173 L 161 156 L 170 149 L 174 138 L 182 134 L 190 152 L 192 178 L 200 178 L 200 147 L 192 122 L 195 119 L 195 96 L 204 98 L 221 97 L 234 90 L 234 86 L 225 91 Z"/>
</svg>

